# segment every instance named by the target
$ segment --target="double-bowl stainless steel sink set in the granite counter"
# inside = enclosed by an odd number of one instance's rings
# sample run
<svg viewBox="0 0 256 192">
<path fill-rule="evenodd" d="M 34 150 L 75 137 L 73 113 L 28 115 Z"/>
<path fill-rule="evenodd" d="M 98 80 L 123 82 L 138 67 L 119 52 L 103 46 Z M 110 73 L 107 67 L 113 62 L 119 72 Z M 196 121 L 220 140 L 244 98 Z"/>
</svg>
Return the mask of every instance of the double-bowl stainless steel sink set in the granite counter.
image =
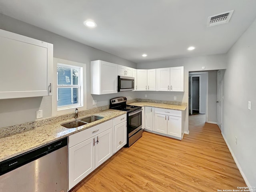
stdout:
<svg viewBox="0 0 256 192">
<path fill-rule="evenodd" d="M 66 128 L 76 128 L 76 127 L 100 120 L 102 118 L 103 117 L 101 117 L 101 116 L 92 115 L 92 116 L 89 116 L 86 118 L 81 118 L 81 119 L 77 119 L 77 120 L 74 120 L 71 122 L 62 123 L 60 125 L 66 127 Z"/>
</svg>

